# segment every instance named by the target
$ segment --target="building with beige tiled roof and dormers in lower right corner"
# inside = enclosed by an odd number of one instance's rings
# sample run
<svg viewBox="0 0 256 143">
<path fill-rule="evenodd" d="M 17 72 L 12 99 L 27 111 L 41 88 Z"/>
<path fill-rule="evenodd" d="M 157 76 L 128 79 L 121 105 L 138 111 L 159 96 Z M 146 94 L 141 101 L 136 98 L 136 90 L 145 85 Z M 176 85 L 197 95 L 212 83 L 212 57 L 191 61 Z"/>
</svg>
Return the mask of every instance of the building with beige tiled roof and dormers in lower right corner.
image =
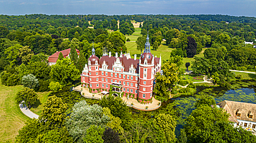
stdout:
<svg viewBox="0 0 256 143">
<path fill-rule="evenodd" d="M 235 127 L 241 126 L 256 135 L 256 104 L 224 100 L 217 106 L 230 114 L 228 120 L 233 122 Z"/>
</svg>

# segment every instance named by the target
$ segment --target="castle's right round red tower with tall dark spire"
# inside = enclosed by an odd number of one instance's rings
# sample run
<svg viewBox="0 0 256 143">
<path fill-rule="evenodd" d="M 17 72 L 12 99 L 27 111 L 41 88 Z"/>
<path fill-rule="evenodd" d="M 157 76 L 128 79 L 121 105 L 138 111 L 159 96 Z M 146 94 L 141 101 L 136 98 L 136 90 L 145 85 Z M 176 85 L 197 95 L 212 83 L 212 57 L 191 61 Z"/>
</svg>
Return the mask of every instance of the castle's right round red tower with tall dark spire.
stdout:
<svg viewBox="0 0 256 143">
<path fill-rule="evenodd" d="M 154 80 L 154 60 L 150 52 L 149 36 L 147 34 L 147 42 L 145 43 L 145 50 L 140 55 L 139 62 L 139 88 L 138 101 L 140 99 L 149 100 L 152 98 L 153 80 Z"/>
</svg>

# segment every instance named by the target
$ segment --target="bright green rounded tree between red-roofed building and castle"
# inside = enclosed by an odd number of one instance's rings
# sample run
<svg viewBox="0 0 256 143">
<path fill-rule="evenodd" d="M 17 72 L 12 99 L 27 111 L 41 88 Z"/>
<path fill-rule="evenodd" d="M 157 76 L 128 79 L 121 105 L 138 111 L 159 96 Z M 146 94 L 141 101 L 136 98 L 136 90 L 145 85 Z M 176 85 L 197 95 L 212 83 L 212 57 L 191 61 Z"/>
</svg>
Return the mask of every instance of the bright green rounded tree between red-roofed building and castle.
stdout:
<svg viewBox="0 0 256 143">
<path fill-rule="evenodd" d="M 60 82 L 61 85 L 71 84 L 72 81 L 80 77 L 79 75 L 79 70 L 69 58 L 57 61 L 55 65 L 52 65 L 50 72 L 51 79 Z"/>
</svg>

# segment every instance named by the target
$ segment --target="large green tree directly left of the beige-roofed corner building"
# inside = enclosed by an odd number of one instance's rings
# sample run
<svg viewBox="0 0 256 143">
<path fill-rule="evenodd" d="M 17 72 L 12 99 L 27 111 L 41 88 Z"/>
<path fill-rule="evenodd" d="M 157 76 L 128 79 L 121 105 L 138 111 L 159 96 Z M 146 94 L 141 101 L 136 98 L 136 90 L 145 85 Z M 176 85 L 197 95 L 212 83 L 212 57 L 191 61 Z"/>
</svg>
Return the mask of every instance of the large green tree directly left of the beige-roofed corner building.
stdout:
<svg viewBox="0 0 256 143">
<path fill-rule="evenodd" d="M 196 135 L 201 131 L 210 131 L 216 122 L 229 122 L 228 113 L 223 109 L 210 106 L 200 106 L 196 108 L 190 116 L 186 119 L 185 131 L 190 142 L 196 142 Z M 205 134 L 206 135 L 206 134 Z"/>
</svg>

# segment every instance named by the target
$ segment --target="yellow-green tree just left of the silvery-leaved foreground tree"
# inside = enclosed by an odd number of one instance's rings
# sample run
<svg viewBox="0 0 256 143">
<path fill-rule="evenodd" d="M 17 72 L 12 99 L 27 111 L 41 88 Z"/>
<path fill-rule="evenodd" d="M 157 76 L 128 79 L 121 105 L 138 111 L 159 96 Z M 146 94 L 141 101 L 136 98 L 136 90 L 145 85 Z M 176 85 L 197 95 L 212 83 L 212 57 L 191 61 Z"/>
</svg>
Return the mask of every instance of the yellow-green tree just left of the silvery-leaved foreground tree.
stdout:
<svg viewBox="0 0 256 143">
<path fill-rule="evenodd" d="M 44 104 L 39 120 L 43 120 L 46 124 L 49 124 L 51 129 L 60 127 L 64 124 L 67 107 L 67 104 L 62 102 L 62 98 L 49 96 Z"/>
</svg>

